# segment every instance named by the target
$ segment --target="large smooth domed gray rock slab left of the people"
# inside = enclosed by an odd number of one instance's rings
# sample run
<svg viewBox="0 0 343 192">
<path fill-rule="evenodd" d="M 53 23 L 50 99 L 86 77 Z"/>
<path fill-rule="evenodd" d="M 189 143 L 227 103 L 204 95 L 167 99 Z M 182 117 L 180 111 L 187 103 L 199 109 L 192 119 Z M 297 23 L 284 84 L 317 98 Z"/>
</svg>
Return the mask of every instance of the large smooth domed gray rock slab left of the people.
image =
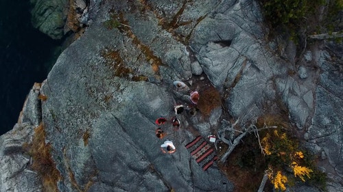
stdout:
<svg viewBox="0 0 343 192">
<path fill-rule="evenodd" d="M 104 6 L 99 14 L 108 13 L 109 7 Z M 64 178 L 58 183 L 59 189 L 73 190 L 75 179 L 80 189 L 92 182 L 90 190 L 104 191 L 232 190 L 219 169 L 211 167 L 204 172 L 191 159 L 184 146 L 196 135 L 163 127 L 165 139 L 175 143 L 177 152 L 161 153 L 164 139 L 154 135 L 154 120 L 175 115 L 177 98 L 169 88 L 174 80 L 191 77 L 190 61 L 183 44 L 158 30 L 156 19 L 146 20 L 140 14 L 126 13 L 139 46 L 118 29 L 106 29 L 104 20 L 95 19 L 84 36 L 62 53 L 43 83 L 41 92 L 49 98 L 43 102 L 43 122 Z M 147 12 L 145 16 L 154 15 Z M 137 74 L 158 75 L 151 68 L 154 61 L 147 61 L 148 55 L 141 53 L 145 45 L 163 62 L 160 84 L 130 79 Z M 119 51 L 118 57 L 133 69 L 132 76 L 113 72 L 114 63 L 102 55 L 113 50 Z M 182 124 L 188 124 L 187 119 L 180 118 Z M 83 135 L 87 132 L 90 137 L 85 145 Z"/>
</svg>

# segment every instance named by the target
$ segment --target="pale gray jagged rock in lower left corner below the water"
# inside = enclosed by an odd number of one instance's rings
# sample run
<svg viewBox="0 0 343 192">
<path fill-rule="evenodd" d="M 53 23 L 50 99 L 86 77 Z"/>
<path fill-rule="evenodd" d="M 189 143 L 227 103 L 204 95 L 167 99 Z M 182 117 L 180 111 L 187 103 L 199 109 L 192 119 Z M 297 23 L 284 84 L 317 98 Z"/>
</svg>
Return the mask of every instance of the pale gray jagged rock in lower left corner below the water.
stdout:
<svg viewBox="0 0 343 192">
<path fill-rule="evenodd" d="M 34 87 L 23 107 L 25 118 L 19 118 L 8 133 L 0 136 L 0 191 L 41 191 L 40 176 L 30 168 L 30 157 L 25 154 L 24 144 L 32 141 L 36 114 L 40 113 Z M 22 120 L 25 120 L 23 122 Z"/>
</svg>

